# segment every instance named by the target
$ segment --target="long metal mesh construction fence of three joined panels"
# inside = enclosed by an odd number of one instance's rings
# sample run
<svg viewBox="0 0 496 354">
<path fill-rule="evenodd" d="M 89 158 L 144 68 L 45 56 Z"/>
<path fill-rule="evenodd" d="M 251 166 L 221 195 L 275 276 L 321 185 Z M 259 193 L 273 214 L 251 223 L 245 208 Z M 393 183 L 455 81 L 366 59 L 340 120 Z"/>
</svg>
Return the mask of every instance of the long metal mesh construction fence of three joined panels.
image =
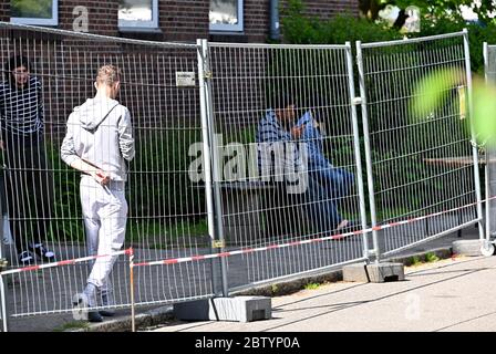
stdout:
<svg viewBox="0 0 496 354">
<path fill-rule="evenodd" d="M 4 329 L 8 316 L 73 312 L 96 257 L 117 257 L 107 282 L 115 304 L 99 309 L 134 309 L 379 259 L 480 220 L 477 149 L 459 127 L 471 108 L 461 100 L 472 94 L 466 33 L 358 43 L 354 62 L 351 43 L 178 44 L 0 28 L 1 61 L 23 54 L 33 62 L 44 105 L 45 165 L 2 162 L 4 176 L 37 176 L 53 190 L 53 198 L 40 194 L 43 202 L 8 207 L 12 235 L 17 241 L 16 230 L 31 230 L 24 243 L 43 241 L 58 260 L 23 268 L 19 250 L 6 247 Z M 96 256 L 85 240 L 80 174 L 59 150 L 68 115 L 93 96 L 103 64 L 123 72 L 120 102 L 132 114 L 136 157 L 124 246 Z M 452 100 L 412 123 L 412 87 L 441 67 L 462 73 Z M 288 104 L 294 111 L 276 110 Z M 302 128 L 289 133 L 281 117 Z M 456 156 L 471 160 L 446 164 Z M 281 164 L 267 163 L 278 157 Z M 38 240 L 40 219 L 48 231 Z"/>
</svg>

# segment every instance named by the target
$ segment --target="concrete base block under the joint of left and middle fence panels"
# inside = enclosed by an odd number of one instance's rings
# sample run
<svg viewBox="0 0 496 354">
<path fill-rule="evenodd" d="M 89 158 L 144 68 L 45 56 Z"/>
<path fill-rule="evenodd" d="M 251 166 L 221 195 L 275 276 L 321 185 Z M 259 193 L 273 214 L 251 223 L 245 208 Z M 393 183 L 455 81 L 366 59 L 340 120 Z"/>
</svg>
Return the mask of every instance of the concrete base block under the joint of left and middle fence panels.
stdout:
<svg viewBox="0 0 496 354">
<path fill-rule="evenodd" d="M 196 300 L 174 304 L 174 315 L 183 321 L 252 322 L 270 320 L 272 302 L 266 296 L 236 296 Z"/>
</svg>

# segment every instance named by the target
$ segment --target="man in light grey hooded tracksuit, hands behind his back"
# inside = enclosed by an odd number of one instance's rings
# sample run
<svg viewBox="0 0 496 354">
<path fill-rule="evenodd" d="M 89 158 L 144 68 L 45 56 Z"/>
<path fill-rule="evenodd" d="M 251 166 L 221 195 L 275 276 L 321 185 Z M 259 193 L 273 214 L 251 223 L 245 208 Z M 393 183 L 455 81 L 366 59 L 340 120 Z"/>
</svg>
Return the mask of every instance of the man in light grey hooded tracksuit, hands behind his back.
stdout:
<svg viewBox="0 0 496 354">
<path fill-rule="evenodd" d="M 134 157 L 134 138 L 130 111 L 115 101 L 121 86 L 120 72 L 113 65 L 99 70 L 94 98 L 75 107 L 68 119 L 61 147 L 62 159 L 82 171 L 81 204 L 90 256 L 108 254 L 124 243 L 127 202 L 124 187 L 127 163 Z M 108 275 L 116 257 L 94 261 L 86 288 L 78 299 L 89 308 L 113 305 Z M 91 322 L 101 322 L 111 311 L 89 311 Z"/>
</svg>

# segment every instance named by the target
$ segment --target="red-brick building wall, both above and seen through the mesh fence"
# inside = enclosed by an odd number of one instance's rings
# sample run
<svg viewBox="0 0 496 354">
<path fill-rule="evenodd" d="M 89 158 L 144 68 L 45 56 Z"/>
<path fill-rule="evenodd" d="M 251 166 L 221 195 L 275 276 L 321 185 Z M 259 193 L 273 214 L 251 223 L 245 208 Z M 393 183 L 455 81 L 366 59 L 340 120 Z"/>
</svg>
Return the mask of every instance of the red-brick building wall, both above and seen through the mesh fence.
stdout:
<svg viewBox="0 0 496 354">
<path fill-rule="evenodd" d="M 87 32 L 125 39 L 151 41 L 188 42 L 196 39 L 209 39 L 215 42 L 266 42 L 270 34 L 270 0 L 237 0 L 244 4 L 242 31 L 211 31 L 209 27 L 210 1 L 214 0 L 149 0 L 157 4 L 157 27 L 153 29 L 133 29 L 120 27 L 120 1 L 102 0 L 43 0 L 56 3 L 56 25 L 51 28 L 73 30 L 80 13 L 74 10 L 84 7 L 87 10 Z M 281 0 L 282 3 L 287 0 Z M 303 0 L 308 14 L 321 18 L 335 13 L 358 14 L 358 0 Z M 11 19 L 11 0 L 0 0 L 0 20 Z M 68 114 L 81 101 L 92 95 L 94 73 L 102 63 L 116 63 L 124 73 L 122 100 L 135 115 L 135 122 L 143 126 L 161 125 L 162 119 L 177 121 L 184 126 L 198 124 L 198 93 L 195 87 L 176 87 L 177 72 L 197 70 L 196 51 L 177 49 L 154 49 L 149 45 L 134 45 L 118 41 L 90 41 L 59 34 L 35 34 L 27 31 L 1 30 L 0 63 L 13 53 L 22 53 L 34 64 L 33 73 L 43 83 L 46 122 L 52 136 L 59 139 L 64 132 Z M 236 77 L 244 72 L 238 67 L 242 55 L 230 59 L 217 59 L 217 72 Z M 224 65 L 224 61 L 230 61 Z M 267 70 L 267 58 L 254 70 L 262 73 Z M 242 65 L 241 65 L 242 66 Z M 254 74 L 247 72 L 245 75 Z M 264 76 L 260 74 L 260 76 Z M 196 83 L 197 84 L 197 83 Z M 223 102 L 227 96 L 252 97 L 245 103 L 252 107 L 264 105 L 264 94 L 254 81 L 238 82 L 236 87 L 224 90 L 215 98 Z M 223 90 L 220 90 L 223 91 Z M 241 110 L 238 107 L 237 110 Z M 224 111 L 224 110 L 219 110 Z M 236 110 L 235 110 L 236 111 Z M 231 119 L 220 115 L 219 119 Z"/>
</svg>

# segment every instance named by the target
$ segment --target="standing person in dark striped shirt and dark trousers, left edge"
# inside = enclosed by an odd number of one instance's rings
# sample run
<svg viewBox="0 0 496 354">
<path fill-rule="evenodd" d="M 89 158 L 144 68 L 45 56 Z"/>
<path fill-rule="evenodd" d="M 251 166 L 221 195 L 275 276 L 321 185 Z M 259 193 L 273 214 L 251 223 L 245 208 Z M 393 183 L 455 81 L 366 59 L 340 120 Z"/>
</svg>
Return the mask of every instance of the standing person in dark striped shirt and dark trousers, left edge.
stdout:
<svg viewBox="0 0 496 354">
<path fill-rule="evenodd" d="M 31 63 L 16 55 L 4 65 L 0 84 L 0 153 L 6 167 L 4 194 L 11 231 L 21 266 L 53 261 L 42 239 L 51 215 L 50 173 L 44 153 L 44 112 L 41 82 Z"/>
</svg>

